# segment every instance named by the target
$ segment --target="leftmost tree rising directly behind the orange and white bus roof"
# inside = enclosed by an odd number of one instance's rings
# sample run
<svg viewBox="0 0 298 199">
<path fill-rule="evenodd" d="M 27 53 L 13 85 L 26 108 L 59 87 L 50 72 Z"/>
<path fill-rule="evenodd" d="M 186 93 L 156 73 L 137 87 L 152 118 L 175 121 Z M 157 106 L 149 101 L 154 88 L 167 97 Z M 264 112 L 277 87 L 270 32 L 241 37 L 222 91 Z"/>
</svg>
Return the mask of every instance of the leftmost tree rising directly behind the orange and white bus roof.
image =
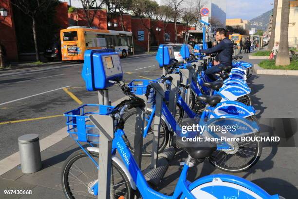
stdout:
<svg viewBox="0 0 298 199">
<path fill-rule="evenodd" d="M 92 23 L 94 20 L 94 17 L 97 14 L 97 11 L 103 6 L 105 3 L 105 0 L 99 1 L 100 3 L 98 4 L 99 0 L 81 0 L 83 10 L 85 13 L 85 20 L 88 22 L 88 25 L 92 27 Z M 93 12 L 91 12 L 93 10 Z"/>
</svg>

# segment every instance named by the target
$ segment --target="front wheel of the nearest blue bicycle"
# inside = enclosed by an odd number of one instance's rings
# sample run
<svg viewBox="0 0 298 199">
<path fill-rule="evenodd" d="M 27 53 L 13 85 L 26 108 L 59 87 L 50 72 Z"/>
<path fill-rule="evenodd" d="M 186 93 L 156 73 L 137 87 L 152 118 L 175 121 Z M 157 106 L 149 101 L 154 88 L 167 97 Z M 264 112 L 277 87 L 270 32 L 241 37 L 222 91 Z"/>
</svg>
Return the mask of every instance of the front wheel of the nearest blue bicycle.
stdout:
<svg viewBox="0 0 298 199">
<path fill-rule="evenodd" d="M 98 162 L 98 153 L 90 153 Z M 97 199 L 91 190 L 98 179 L 98 169 L 88 155 L 79 150 L 69 156 L 61 173 L 62 189 L 68 199 Z M 130 182 L 121 167 L 112 161 L 111 199 L 130 198 Z"/>
</svg>

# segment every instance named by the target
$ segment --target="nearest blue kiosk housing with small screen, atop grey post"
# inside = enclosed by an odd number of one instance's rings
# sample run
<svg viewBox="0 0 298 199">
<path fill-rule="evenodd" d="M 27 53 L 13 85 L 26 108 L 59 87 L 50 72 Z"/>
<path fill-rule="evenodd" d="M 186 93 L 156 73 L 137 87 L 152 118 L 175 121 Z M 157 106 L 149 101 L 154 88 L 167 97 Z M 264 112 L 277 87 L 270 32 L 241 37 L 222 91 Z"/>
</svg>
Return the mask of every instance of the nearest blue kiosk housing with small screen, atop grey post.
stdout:
<svg viewBox="0 0 298 199">
<path fill-rule="evenodd" d="M 112 49 L 86 50 L 82 78 L 88 91 L 114 85 L 109 80 L 122 80 L 123 71 L 118 53 Z"/>
</svg>

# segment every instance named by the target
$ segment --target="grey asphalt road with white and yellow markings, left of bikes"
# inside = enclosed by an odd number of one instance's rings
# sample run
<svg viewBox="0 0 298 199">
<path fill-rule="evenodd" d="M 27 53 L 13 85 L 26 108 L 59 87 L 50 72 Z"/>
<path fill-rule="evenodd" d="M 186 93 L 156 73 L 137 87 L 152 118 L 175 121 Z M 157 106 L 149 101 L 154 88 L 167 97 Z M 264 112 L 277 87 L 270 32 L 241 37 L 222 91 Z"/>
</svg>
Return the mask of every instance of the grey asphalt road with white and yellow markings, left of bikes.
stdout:
<svg viewBox="0 0 298 199">
<path fill-rule="evenodd" d="M 155 56 L 121 59 L 121 64 L 125 82 L 143 77 L 156 79 L 162 74 Z M 80 105 L 63 87 L 67 87 L 84 104 L 98 103 L 97 92 L 86 91 L 81 70 L 82 63 L 76 63 L 65 68 L 37 72 L 32 70 L 30 73 L 0 77 L 0 159 L 19 150 L 18 137 L 23 134 L 36 133 L 42 139 L 65 127 L 65 117 L 61 115 Z M 117 86 L 109 90 L 112 101 L 124 96 Z M 46 118 L 38 119 L 43 117 Z M 29 121 L 21 121 L 23 119 Z"/>
</svg>

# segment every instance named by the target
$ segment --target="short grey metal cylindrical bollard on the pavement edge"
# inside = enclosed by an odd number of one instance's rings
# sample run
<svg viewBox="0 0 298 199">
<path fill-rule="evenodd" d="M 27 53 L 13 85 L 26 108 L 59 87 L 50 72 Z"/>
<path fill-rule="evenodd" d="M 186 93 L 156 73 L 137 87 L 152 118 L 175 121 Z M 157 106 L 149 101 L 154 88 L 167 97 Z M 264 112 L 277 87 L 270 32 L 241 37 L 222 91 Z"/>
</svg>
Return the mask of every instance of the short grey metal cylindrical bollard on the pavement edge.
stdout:
<svg viewBox="0 0 298 199">
<path fill-rule="evenodd" d="M 22 172 L 25 174 L 31 174 L 39 171 L 42 164 L 38 135 L 26 134 L 20 136 L 18 140 Z"/>
</svg>

